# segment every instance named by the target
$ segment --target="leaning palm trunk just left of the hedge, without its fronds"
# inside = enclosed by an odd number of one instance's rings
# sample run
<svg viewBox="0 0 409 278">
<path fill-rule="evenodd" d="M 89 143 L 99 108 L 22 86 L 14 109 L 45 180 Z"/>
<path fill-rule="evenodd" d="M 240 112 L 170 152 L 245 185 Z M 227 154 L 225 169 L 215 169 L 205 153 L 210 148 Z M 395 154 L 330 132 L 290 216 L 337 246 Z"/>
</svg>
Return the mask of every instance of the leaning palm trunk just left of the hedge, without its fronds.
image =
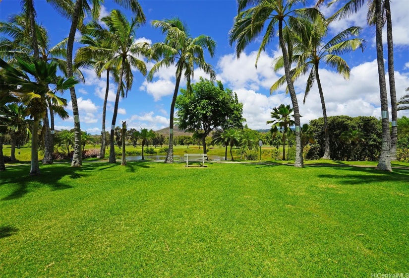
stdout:
<svg viewBox="0 0 409 278">
<path fill-rule="evenodd" d="M 278 30 L 279 30 L 279 39 L 280 39 L 280 46 L 281 46 L 281 51 L 283 52 L 283 59 L 284 59 L 284 70 L 286 73 L 286 80 L 287 80 L 287 86 L 289 88 L 290 92 L 290 97 L 291 97 L 291 102 L 292 102 L 292 109 L 294 111 L 294 122 L 295 122 L 295 128 L 300 127 L 300 117 L 299 117 L 299 109 L 298 109 L 298 101 L 297 101 L 297 96 L 295 94 L 294 90 L 294 85 L 292 83 L 291 79 L 291 74 L 290 74 L 290 61 L 289 57 L 287 54 L 287 48 L 286 45 L 284 44 L 284 39 L 283 39 L 283 20 L 280 19 L 278 22 Z M 295 162 L 294 162 L 295 167 L 303 167 L 304 162 L 302 158 L 302 147 L 301 147 L 301 132 L 300 131 L 295 131 Z"/>
</svg>

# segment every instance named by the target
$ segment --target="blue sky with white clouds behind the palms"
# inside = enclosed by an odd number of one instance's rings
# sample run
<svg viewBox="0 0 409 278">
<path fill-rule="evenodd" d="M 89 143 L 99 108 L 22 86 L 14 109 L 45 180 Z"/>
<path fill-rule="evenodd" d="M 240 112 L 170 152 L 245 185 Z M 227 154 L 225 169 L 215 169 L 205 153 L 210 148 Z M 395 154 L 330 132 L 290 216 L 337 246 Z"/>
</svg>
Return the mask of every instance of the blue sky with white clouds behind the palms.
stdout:
<svg viewBox="0 0 409 278">
<path fill-rule="evenodd" d="M 41 22 L 49 31 L 52 45 L 68 36 L 70 23 L 61 17 L 45 0 L 35 0 L 37 21 Z M 141 0 L 142 8 L 147 18 L 147 24 L 140 27 L 137 39 L 155 43 L 163 40 L 163 35 L 154 29 L 150 22 L 154 19 L 163 19 L 177 16 L 187 23 L 192 36 L 205 34 L 217 42 L 216 56 L 212 59 L 206 55 L 207 62 L 212 64 L 217 73 L 217 79 L 222 80 L 225 87 L 233 89 L 239 101 L 244 104 L 244 117 L 247 124 L 253 129 L 267 129 L 266 121 L 269 120 L 273 107 L 291 104 L 290 98 L 285 95 L 285 88 L 270 96 L 270 86 L 282 75 L 283 71 L 275 73 L 271 70 L 274 58 L 281 55 L 278 48 L 278 39 L 271 43 L 266 52 L 262 54 L 257 70 L 254 67 L 255 51 L 258 49 L 257 41 L 252 43 L 237 60 L 234 48 L 229 45 L 228 32 L 236 15 L 234 0 Z M 313 1 L 309 5 L 313 5 Z M 104 4 L 102 16 L 109 14 L 110 10 L 120 6 L 107 0 Z M 323 7 L 326 16 L 331 15 L 337 6 Z M 395 44 L 395 78 L 398 99 L 409 87 L 409 1 L 394 0 L 391 2 L 394 44 Z M 6 20 L 12 13 L 20 12 L 19 0 L 3 0 L 0 3 L 0 19 Z M 122 9 L 123 10 L 123 9 Z M 124 11 L 128 18 L 131 12 Z M 330 25 L 330 36 L 350 27 L 364 27 L 361 37 L 367 41 L 366 50 L 362 53 L 345 55 L 343 58 L 351 67 L 350 80 L 344 80 L 333 70 L 321 70 L 324 96 L 327 113 L 333 115 L 350 116 L 375 116 L 380 117 L 380 97 L 377 79 L 375 32 L 368 27 L 366 21 L 366 7 L 348 20 L 334 22 Z M 77 34 L 79 36 L 79 33 Z M 80 47 L 74 43 L 74 49 Z M 384 34 L 384 50 L 386 63 L 386 35 Z M 152 67 L 148 62 L 148 70 Z M 102 105 L 105 93 L 106 79 L 98 79 L 92 70 L 83 70 L 86 77 L 85 84 L 76 86 L 76 93 L 80 109 L 81 129 L 91 134 L 100 134 L 102 128 Z M 175 69 L 164 69 L 155 75 L 152 82 L 147 82 L 140 73 L 134 72 L 135 80 L 132 90 L 126 99 L 119 102 L 117 126 L 121 121 L 126 121 L 128 128 L 161 129 L 169 126 L 169 111 L 172 94 L 175 88 Z M 204 75 L 200 70 L 195 71 L 195 80 Z M 103 75 L 104 76 L 104 75 Z M 205 76 L 205 75 L 204 75 Z M 302 104 L 304 92 L 304 77 L 296 84 L 297 99 L 299 101 L 301 121 L 308 123 L 322 115 L 321 105 L 316 85 L 311 90 L 305 105 Z M 111 125 L 116 86 L 111 82 L 110 96 L 107 109 L 107 127 Z M 182 83 L 182 86 L 185 84 Z M 69 93 L 63 97 L 70 100 Z M 71 113 L 71 103 L 67 110 Z M 399 112 L 399 116 L 409 116 L 409 113 Z M 72 118 L 62 121 L 56 120 L 56 129 L 70 129 L 73 127 Z"/>
</svg>

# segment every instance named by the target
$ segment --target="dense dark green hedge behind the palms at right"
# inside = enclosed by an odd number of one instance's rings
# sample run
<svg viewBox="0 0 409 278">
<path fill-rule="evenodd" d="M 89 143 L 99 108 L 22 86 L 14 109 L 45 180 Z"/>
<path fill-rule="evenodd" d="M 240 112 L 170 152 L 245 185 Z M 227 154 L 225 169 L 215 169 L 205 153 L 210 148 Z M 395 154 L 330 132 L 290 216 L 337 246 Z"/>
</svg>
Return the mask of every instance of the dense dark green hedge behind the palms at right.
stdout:
<svg viewBox="0 0 409 278">
<path fill-rule="evenodd" d="M 319 118 L 310 121 L 314 139 L 320 145 L 320 157 L 324 155 L 325 136 L 324 120 Z M 379 159 L 382 146 L 382 125 L 381 121 L 375 117 L 349 117 L 333 116 L 328 117 L 328 133 L 330 140 L 331 158 L 334 160 L 351 160 L 352 146 L 341 140 L 343 132 L 348 130 L 360 130 L 365 139 L 354 152 L 354 158 L 357 161 Z"/>
</svg>

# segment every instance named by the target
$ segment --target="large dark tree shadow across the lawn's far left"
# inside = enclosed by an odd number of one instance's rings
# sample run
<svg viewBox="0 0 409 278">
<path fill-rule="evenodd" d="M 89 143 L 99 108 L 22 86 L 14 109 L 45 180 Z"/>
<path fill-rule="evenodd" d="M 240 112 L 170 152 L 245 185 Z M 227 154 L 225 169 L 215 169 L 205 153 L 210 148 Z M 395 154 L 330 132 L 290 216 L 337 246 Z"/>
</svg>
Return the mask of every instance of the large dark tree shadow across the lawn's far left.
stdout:
<svg viewBox="0 0 409 278">
<path fill-rule="evenodd" d="M 69 165 L 66 165 L 66 167 L 47 165 L 47 167 L 40 168 L 40 175 L 33 177 L 29 176 L 30 165 L 9 167 L 6 172 L 1 173 L 1 186 L 13 184 L 15 189 L 8 196 L 2 198 L 1 201 L 20 199 L 43 185 L 50 187 L 52 191 L 69 189 L 73 186 L 61 182 L 63 177 L 67 176 L 70 179 L 81 179 L 82 177 L 90 175 L 87 172 L 95 172 L 117 166 L 117 164 L 112 164 L 101 168 L 101 164 L 98 164 L 90 163 L 85 164 L 83 167 L 75 168 Z"/>
</svg>

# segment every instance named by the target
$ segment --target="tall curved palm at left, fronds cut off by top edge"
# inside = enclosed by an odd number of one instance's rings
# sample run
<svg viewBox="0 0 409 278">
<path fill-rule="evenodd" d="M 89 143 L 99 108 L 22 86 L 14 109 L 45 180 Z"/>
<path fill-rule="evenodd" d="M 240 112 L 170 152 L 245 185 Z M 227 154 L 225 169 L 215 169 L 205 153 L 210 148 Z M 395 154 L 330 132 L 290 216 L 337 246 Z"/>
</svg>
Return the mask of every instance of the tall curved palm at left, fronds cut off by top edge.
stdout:
<svg viewBox="0 0 409 278">
<path fill-rule="evenodd" d="M 83 28 L 83 21 L 85 15 L 88 14 L 93 20 L 97 20 L 100 16 L 101 6 L 104 0 L 92 0 L 92 5 L 89 4 L 89 0 L 75 0 L 74 5 L 71 1 L 66 0 L 47 0 L 50 2 L 55 9 L 64 17 L 67 17 L 71 21 L 71 27 L 69 29 L 68 40 L 67 40 L 67 76 L 73 76 L 73 64 L 72 64 L 72 54 L 75 39 L 75 32 L 77 28 Z M 117 4 L 124 8 L 131 9 L 135 14 L 137 21 L 145 23 L 146 18 L 137 0 L 114 0 Z M 92 6 L 92 7 L 91 7 Z M 74 116 L 74 133 L 75 133 L 75 144 L 74 144 L 74 156 L 72 157 L 71 166 L 81 166 L 82 165 L 82 154 L 81 154 L 81 126 L 79 121 L 78 113 L 78 103 L 77 96 L 74 87 L 70 88 L 71 103 L 72 103 L 72 114 Z M 112 141 L 112 140 L 111 140 Z"/>
</svg>

